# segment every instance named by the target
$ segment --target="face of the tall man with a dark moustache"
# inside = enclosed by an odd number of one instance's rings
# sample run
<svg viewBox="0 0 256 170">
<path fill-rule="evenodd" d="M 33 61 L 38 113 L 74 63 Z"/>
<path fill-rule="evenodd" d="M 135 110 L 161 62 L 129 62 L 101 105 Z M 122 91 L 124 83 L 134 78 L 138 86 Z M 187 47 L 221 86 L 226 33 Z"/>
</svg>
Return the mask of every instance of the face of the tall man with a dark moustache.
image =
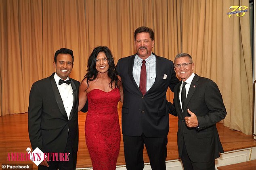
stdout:
<svg viewBox="0 0 256 170">
<path fill-rule="evenodd" d="M 139 57 L 146 59 L 151 55 L 155 41 L 151 40 L 149 33 L 136 34 L 135 47 Z"/>
</svg>

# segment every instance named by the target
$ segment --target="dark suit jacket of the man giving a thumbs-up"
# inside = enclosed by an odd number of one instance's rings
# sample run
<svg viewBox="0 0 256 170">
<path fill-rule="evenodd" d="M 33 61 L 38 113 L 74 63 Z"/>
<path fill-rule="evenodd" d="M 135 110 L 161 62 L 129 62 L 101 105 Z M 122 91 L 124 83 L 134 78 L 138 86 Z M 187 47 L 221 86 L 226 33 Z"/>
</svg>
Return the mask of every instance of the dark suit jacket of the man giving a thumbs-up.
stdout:
<svg viewBox="0 0 256 170">
<path fill-rule="evenodd" d="M 180 85 L 181 82 L 174 88 L 174 104 L 170 106 L 170 113 L 178 116 L 179 156 L 182 156 L 184 139 L 187 153 L 193 162 L 212 161 L 220 156 L 219 152 L 224 152 L 215 124 L 227 114 L 220 90 L 212 80 L 195 74 L 182 113 L 179 100 Z M 184 118 L 190 116 L 187 109 L 197 116 L 199 128 L 189 128 L 185 124 Z"/>
</svg>

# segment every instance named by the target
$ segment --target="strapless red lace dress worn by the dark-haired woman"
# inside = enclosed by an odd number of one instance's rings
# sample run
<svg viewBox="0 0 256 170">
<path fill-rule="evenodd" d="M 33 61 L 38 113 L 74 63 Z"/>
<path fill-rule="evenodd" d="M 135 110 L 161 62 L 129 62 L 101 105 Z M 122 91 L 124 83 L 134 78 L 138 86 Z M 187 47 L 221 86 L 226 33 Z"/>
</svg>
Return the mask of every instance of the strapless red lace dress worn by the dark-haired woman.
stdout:
<svg viewBox="0 0 256 170">
<path fill-rule="evenodd" d="M 87 98 L 85 138 L 92 167 L 94 170 L 115 170 L 120 149 L 119 89 L 110 92 L 94 89 L 87 93 Z"/>
</svg>

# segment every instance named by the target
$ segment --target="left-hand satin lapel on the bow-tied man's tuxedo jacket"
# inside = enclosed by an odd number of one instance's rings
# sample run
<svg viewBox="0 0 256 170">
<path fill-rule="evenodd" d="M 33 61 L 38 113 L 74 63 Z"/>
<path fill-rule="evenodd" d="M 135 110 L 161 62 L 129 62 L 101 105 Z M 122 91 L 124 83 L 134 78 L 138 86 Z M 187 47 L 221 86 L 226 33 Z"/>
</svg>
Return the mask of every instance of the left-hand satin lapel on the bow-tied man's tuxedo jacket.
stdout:
<svg viewBox="0 0 256 170">
<path fill-rule="evenodd" d="M 62 115 L 65 117 L 65 119 L 68 120 L 68 118 L 67 118 L 67 113 L 66 113 L 66 111 L 65 111 L 64 104 L 63 104 L 63 101 L 62 101 L 62 99 L 61 99 L 61 95 L 59 94 L 59 89 L 58 89 L 58 87 L 57 87 L 57 85 L 56 85 L 56 82 L 55 82 L 55 80 L 54 80 L 53 75 L 50 76 L 50 83 L 51 83 L 52 90 L 53 90 L 53 94 L 54 94 L 54 96 L 55 96 L 55 100 L 56 100 L 56 102 L 57 102 L 57 104 L 58 104 L 59 110 L 61 111 L 61 113 L 62 113 Z"/>
</svg>

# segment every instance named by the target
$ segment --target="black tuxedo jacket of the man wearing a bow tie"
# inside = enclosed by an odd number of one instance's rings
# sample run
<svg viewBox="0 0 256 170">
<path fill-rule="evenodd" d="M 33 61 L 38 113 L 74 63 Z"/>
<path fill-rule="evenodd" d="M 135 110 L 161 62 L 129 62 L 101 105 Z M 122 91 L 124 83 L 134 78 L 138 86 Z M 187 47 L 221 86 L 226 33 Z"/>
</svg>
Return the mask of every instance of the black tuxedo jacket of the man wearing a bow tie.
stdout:
<svg viewBox="0 0 256 170">
<path fill-rule="evenodd" d="M 63 152 L 68 132 L 73 150 L 78 151 L 78 90 L 80 82 L 69 78 L 73 107 L 67 118 L 61 95 L 53 77 L 35 82 L 29 94 L 28 129 L 31 146 L 42 152 Z"/>
</svg>

